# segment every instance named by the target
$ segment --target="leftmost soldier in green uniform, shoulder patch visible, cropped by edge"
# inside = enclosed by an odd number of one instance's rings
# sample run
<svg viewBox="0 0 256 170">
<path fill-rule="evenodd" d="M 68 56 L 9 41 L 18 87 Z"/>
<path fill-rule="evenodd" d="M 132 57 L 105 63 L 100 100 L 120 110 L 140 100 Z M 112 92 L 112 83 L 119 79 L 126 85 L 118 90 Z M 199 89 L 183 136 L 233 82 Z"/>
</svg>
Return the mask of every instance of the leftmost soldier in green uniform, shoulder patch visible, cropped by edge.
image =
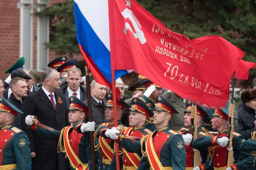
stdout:
<svg viewBox="0 0 256 170">
<path fill-rule="evenodd" d="M 31 170 L 27 134 L 12 125 L 19 113 L 23 112 L 0 98 L 0 170 Z"/>
</svg>

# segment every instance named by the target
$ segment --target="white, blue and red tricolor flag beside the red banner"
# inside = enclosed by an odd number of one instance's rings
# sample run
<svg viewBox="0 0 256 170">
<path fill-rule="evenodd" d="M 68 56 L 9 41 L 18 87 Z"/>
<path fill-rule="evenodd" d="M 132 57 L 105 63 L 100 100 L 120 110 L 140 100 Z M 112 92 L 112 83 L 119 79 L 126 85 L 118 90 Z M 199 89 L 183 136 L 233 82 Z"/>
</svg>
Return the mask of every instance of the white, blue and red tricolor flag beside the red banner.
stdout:
<svg viewBox="0 0 256 170">
<path fill-rule="evenodd" d="M 111 88 L 108 0 L 74 0 L 76 37 L 96 82 Z M 133 70 L 116 70 L 115 80 Z"/>
</svg>

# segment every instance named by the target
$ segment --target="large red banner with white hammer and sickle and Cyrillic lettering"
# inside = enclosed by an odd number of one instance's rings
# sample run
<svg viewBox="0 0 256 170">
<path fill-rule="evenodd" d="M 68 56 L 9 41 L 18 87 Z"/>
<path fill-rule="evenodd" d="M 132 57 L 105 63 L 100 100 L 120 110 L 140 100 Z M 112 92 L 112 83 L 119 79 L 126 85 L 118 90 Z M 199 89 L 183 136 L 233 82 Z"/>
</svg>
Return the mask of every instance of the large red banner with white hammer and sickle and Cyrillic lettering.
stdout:
<svg viewBox="0 0 256 170">
<path fill-rule="evenodd" d="M 108 3 L 112 69 L 135 69 L 196 104 L 226 105 L 245 52 L 219 36 L 190 40 L 172 32 L 135 0 Z"/>
</svg>

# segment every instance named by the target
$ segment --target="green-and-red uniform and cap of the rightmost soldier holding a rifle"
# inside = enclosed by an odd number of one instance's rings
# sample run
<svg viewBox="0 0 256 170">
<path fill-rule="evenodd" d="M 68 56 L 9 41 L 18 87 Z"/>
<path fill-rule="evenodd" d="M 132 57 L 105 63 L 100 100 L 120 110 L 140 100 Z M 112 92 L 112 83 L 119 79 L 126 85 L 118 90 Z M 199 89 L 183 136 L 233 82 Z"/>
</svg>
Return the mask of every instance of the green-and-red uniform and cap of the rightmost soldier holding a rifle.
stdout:
<svg viewBox="0 0 256 170">
<path fill-rule="evenodd" d="M 222 119 L 228 121 L 229 111 L 227 109 L 216 110 L 213 116 L 222 117 Z M 217 144 L 217 138 L 227 137 L 228 129 L 223 129 L 221 132 L 218 132 L 216 135 L 210 134 L 207 136 L 202 136 L 201 138 L 197 138 L 193 141 L 192 146 L 199 150 L 203 148 L 209 147 L 209 155 L 212 157 L 208 160 L 207 163 L 199 166 L 201 170 L 209 169 L 213 166 L 214 169 L 225 170 L 227 167 L 227 147 L 221 147 Z M 233 132 L 233 151 L 234 151 L 234 164 L 230 167 L 232 170 L 247 170 L 252 166 L 253 157 L 245 151 L 240 150 L 240 145 L 243 142 L 243 136 L 239 133 Z M 245 158 L 238 162 L 239 154 L 243 154 Z"/>
</svg>

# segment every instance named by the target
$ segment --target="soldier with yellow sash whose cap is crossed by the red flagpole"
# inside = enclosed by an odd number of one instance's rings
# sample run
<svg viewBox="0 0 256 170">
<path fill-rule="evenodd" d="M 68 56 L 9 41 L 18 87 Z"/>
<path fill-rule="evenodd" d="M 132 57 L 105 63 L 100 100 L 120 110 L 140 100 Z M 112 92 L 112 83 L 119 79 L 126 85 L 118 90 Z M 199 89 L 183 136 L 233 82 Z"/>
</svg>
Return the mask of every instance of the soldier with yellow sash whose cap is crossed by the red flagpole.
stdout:
<svg viewBox="0 0 256 170">
<path fill-rule="evenodd" d="M 110 128 L 114 127 L 114 110 L 113 110 L 113 95 L 112 93 L 106 94 L 106 120 L 107 123 L 102 123 L 100 126 L 96 125 L 95 132 L 94 132 L 94 142 L 96 142 L 97 145 L 95 145 L 95 149 L 101 149 L 101 156 L 102 156 L 102 163 L 103 163 L 103 170 L 108 170 L 109 165 L 111 164 L 111 161 L 114 159 L 114 153 L 115 153 L 115 142 L 110 138 Z M 118 127 L 123 128 L 124 126 L 121 124 L 121 116 L 125 109 L 125 107 L 129 107 L 128 104 L 121 100 L 116 100 L 116 114 L 117 114 L 117 124 Z M 81 126 L 81 128 L 79 127 Z M 89 125 L 88 125 L 89 126 Z M 84 127 L 87 127 L 87 125 L 77 125 L 75 128 L 79 132 L 86 132 L 84 130 Z M 99 141 L 97 141 L 97 135 L 100 135 Z M 98 143 L 99 142 L 99 143 Z"/>
</svg>

